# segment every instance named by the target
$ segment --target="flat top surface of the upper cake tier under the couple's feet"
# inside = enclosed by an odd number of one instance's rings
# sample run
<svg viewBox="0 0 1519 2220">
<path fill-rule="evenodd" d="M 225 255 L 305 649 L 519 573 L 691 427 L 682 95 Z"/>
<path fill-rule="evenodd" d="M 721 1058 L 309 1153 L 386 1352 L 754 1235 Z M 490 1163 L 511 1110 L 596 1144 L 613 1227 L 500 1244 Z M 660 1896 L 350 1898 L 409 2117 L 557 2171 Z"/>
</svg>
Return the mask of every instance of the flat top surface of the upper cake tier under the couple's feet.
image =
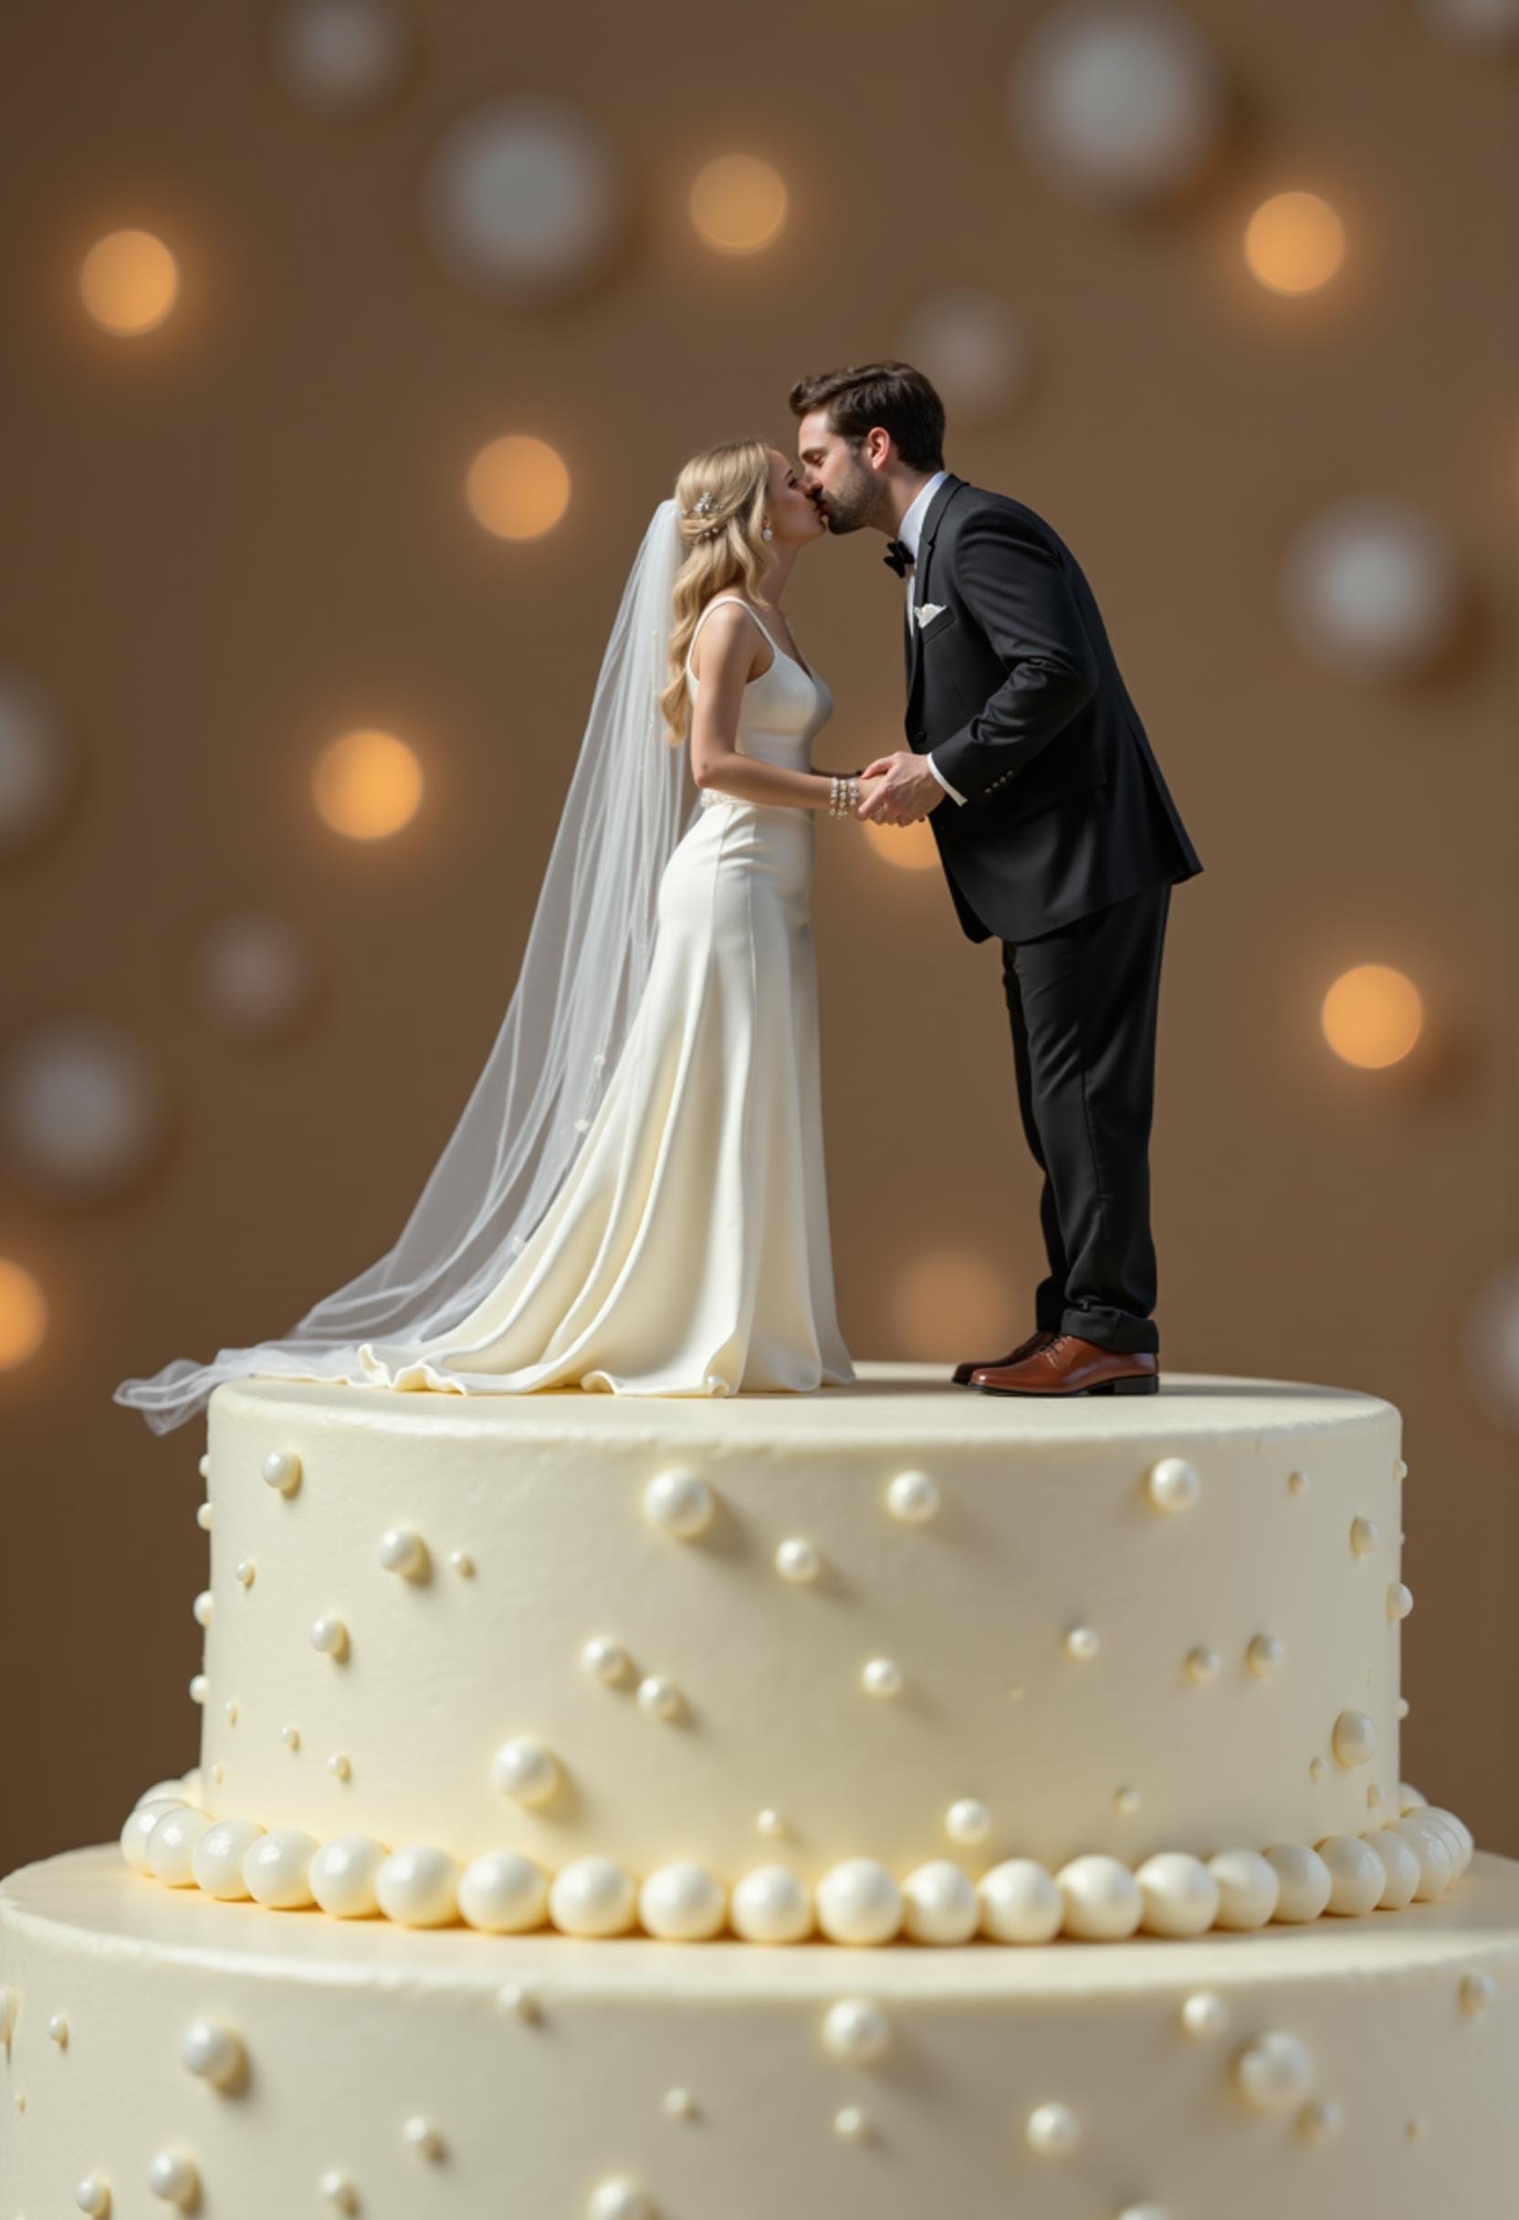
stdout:
<svg viewBox="0 0 1519 2220">
<path fill-rule="evenodd" d="M 240 1379 L 211 1412 L 300 1412 L 304 1421 L 415 1427 L 429 1439 L 688 1443 L 693 1450 L 766 1450 L 802 1443 L 879 1443 L 891 1450 L 984 1447 L 995 1441 L 1057 1452 L 1066 1443 L 1124 1441 L 1164 1450 L 1186 1436 L 1341 1432 L 1397 1421 L 1392 1403 L 1352 1388 L 1161 1372 L 1159 1394 L 999 1396 L 957 1388 L 948 1363 L 859 1361 L 851 1388 L 817 1394 L 628 1396 L 560 1388 L 540 1394 L 453 1394 L 342 1381 Z"/>
</svg>

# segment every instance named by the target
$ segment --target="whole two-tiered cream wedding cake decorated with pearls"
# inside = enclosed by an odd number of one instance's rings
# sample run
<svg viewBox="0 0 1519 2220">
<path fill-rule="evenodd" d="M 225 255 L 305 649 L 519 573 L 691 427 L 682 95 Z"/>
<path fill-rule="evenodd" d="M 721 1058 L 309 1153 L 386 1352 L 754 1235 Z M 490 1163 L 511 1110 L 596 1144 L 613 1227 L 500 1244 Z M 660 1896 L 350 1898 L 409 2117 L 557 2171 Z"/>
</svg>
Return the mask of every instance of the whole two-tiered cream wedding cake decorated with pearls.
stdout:
<svg viewBox="0 0 1519 2220">
<path fill-rule="evenodd" d="M 0 1885 L 0 2220 L 1501 2220 L 1399 1452 L 1175 1372 L 218 1388 L 200 1763 Z"/>
</svg>

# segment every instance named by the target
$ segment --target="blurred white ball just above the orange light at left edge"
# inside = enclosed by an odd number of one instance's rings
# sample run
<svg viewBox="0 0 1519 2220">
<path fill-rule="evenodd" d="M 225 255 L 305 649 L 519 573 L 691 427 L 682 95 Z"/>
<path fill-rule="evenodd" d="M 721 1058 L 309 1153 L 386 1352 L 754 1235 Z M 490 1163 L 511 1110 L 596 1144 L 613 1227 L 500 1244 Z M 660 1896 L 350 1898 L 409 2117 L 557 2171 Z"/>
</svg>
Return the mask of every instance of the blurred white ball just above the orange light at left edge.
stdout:
<svg viewBox="0 0 1519 2220">
<path fill-rule="evenodd" d="M 22 1179 L 64 1201 L 120 1194 L 167 1137 L 158 1068 L 104 1017 L 49 1017 L 0 1061 L 0 1139 Z"/>
</svg>

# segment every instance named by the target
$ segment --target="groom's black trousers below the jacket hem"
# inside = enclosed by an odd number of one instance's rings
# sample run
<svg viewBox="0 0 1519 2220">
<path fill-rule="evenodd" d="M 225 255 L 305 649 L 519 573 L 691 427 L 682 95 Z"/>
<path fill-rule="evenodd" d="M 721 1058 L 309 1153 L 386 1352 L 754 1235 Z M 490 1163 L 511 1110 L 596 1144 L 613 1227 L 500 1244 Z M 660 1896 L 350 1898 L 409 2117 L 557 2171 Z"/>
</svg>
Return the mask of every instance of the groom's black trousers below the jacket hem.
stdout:
<svg viewBox="0 0 1519 2220">
<path fill-rule="evenodd" d="M 1044 1172 L 1035 1325 L 1159 1350 L 1150 1239 L 1155 1019 L 1170 881 L 1002 944 L 1017 1106 Z"/>
</svg>

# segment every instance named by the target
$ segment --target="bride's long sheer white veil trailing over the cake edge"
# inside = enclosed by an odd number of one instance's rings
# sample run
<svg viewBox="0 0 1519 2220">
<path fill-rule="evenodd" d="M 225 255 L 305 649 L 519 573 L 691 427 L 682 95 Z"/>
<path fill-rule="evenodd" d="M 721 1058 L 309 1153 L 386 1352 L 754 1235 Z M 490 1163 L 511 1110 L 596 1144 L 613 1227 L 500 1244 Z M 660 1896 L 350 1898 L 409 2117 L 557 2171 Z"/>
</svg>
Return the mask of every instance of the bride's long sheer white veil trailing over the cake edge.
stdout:
<svg viewBox="0 0 1519 2220">
<path fill-rule="evenodd" d="M 697 806 L 686 750 L 660 722 L 682 555 L 680 506 L 664 500 L 622 591 L 506 1015 L 398 1241 L 278 1341 L 120 1381 L 113 1401 L 155 1434 L 220 1381 L 355 1376 L 360 1341 L 446 1334 L 553 1203 L 628 1037 L 660 879 Z"/>
</svg>

